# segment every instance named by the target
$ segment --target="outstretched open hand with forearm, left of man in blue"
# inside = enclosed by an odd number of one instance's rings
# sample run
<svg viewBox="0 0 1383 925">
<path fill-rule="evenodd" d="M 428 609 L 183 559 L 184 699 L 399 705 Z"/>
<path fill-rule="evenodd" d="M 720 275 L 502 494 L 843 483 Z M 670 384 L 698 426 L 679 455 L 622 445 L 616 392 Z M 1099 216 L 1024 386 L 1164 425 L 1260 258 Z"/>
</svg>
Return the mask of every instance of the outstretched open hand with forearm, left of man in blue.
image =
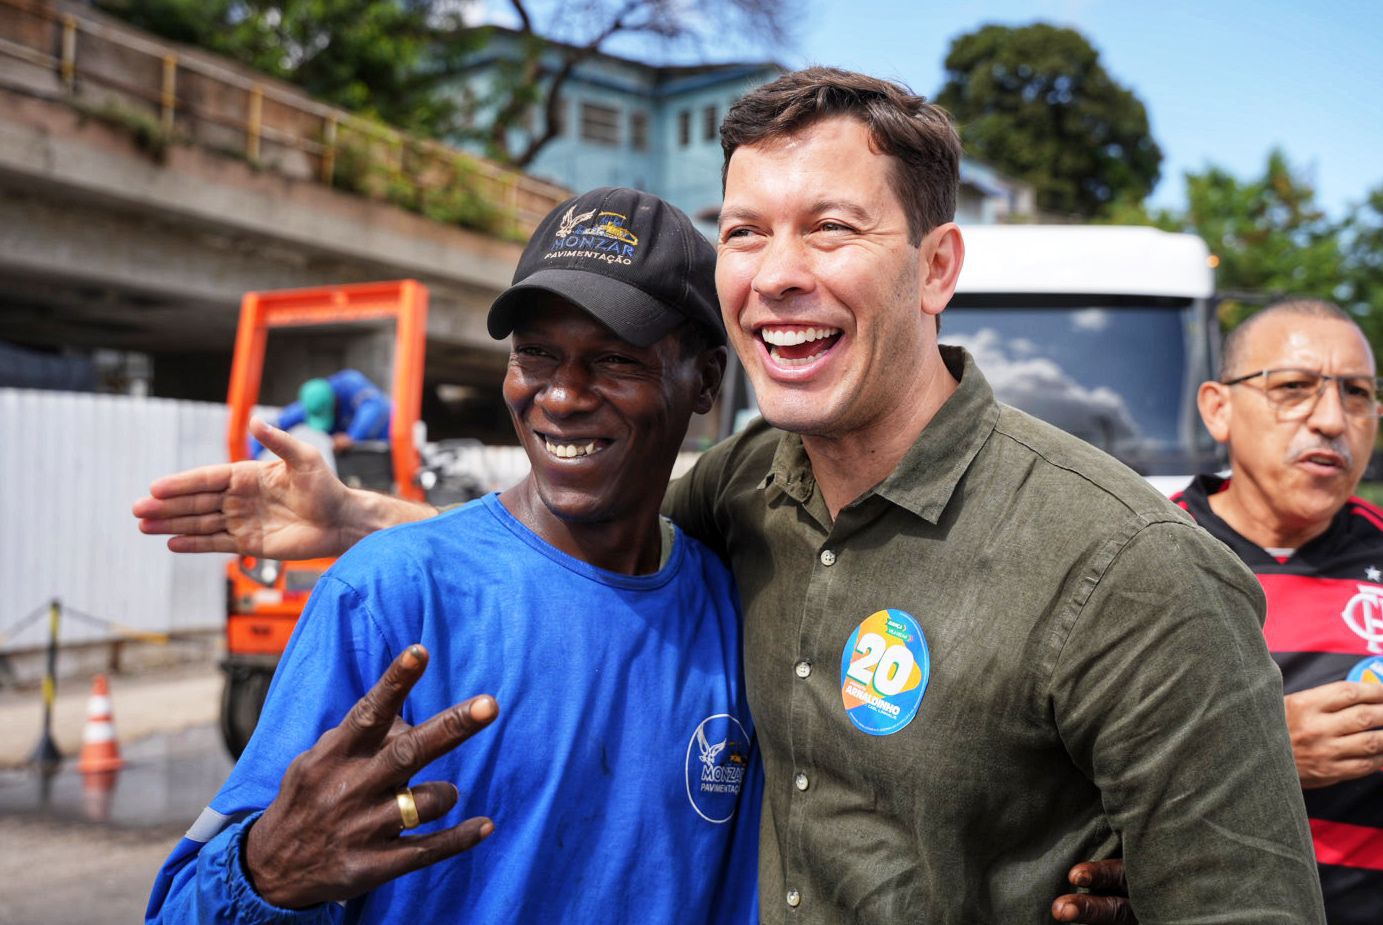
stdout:
<svg viewBox="0 0 1383 925">
<path fill-rule="evenodd" d="M 257 418 L 250 420 L 250 433 L 278 459 L 202 466 L 159 478 L 134 503 L 140 531 L 173 534 L 169 549 L 177 553 L 314 559 L 342 554 L 379 525 L 433 513 L 346 488 L 315 448 Z M 393 520 L 366 524 L 384 506 L 397 509 Z"/>
</svg>

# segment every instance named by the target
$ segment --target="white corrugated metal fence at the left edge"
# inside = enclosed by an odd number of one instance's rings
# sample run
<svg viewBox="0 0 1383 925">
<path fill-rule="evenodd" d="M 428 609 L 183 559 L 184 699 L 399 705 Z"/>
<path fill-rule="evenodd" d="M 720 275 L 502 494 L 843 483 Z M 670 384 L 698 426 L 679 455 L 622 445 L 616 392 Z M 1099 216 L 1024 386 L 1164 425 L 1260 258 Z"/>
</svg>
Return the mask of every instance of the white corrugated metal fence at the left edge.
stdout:
<svg viewBox="0 0 1383 925">
<path fill-rule="evenodd" d="M 39 619 L 65 607 L 148 632 L 224 621 L 225 556 L 176 556 L 136 527 L 149 483 L 225 459 L 225 407 L 162 398 L 0 389 L 0 651 L 47 640 Z M 62 642 L 112 639 L 62 622 Z"/>
</svg>

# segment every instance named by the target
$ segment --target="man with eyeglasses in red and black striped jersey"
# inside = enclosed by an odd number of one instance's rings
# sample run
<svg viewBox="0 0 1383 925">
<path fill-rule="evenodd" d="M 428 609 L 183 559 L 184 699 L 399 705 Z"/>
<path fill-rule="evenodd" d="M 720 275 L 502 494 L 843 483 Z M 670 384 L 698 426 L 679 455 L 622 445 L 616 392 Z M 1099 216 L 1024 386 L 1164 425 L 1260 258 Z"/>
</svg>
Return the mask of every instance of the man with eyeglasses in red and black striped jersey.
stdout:
<svg viewBox="0 0 1383 925">
<path fill-rule="evenodd" d="M 1375 372 L 1330 303 L 1253 315 L 1198 395 L 1232 474 L 1173 498 L 1267 593 L 1332 925 L 1383 921 L 1383 510 L 1353 496 L 1377 434 Z"/>
</svg>

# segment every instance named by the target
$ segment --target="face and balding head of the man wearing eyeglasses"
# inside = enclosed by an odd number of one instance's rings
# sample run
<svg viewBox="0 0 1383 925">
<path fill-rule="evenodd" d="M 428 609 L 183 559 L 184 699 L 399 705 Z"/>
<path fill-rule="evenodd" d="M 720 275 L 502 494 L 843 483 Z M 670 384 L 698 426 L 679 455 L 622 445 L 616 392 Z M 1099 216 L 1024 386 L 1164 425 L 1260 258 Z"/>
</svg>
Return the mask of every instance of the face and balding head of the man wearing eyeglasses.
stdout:
<svg viewBox="0 0 1383 925">
<path fill-rule="evenodd" d="M 1234 362 L 1225 379 L 1289 368 L 1373 376 L 1373 354 L 1358 328 L 1292 312 L 1245 332 Z M 1200 409 L 1210 434 L 1229 444 L 1234 469 L 1229 491 L 1221 492 L 1220 505 L 1228 506 L 1216 510 L 1263 546 L 1296 548 L 1324 532 L 1354 492 L 1377 434 L 1376 416 L 1344 413 L 1333 382 L 1300 420 L 1279 420 L 1261 380 L 1206 383 Z"/>
</svg>

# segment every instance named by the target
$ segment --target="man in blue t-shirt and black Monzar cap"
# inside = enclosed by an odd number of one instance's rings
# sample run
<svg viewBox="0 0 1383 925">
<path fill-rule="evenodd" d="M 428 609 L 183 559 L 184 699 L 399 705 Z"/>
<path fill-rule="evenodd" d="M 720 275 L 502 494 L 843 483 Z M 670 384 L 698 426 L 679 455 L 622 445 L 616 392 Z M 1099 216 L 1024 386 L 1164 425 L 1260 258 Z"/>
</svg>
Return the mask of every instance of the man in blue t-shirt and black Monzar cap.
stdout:
<svg viewBox="0 0 1383 925">
<path fill-rule="evenodd" d="M 148 921 L 755 921 L 736 595 L 658 516 L 725 371 L 714 261 L 632 189 L 544 221 L 488 321 L 531 473 L 321 579 Z"/>
</svg>

